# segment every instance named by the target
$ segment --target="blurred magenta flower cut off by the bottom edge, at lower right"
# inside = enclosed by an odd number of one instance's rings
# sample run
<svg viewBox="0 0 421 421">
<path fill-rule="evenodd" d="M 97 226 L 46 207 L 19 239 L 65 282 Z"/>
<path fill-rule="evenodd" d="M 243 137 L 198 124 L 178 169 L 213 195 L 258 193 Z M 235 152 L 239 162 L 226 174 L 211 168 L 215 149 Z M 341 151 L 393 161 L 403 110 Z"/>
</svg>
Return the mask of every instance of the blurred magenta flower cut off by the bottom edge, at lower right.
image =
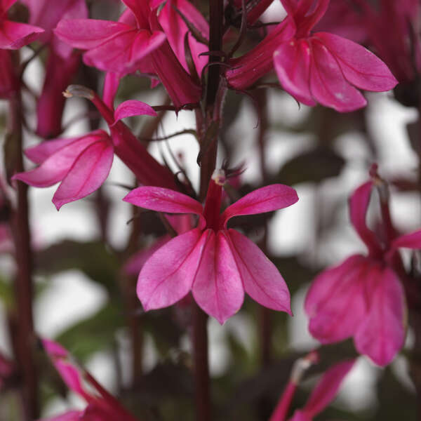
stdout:
<svg viewBox="0 0 421 421">
<path fill-rule="evenodd" d="M 352 370 L 356 360 L 347 360 L 335 364 L 330 367 L 326 373 L 323 374 L 321 380 L 314 387 L 309 400 L 305 404 L 304 408 L 295 410 L 293 417 L 290 421 L 312 421 L 313 418 L 321 413 L 321 411 L 328 406 L 328 404 L 335 399 L 338 394 L 338 389 L 342 384 L 345 376 Z M 274 413 L 270 417 L 269 421 L 285 421 L 290 402 L 297 389 L 298 382 L 302 377 L 302 373 L 313 361 L 306 361 L 301 359 L 297 361 L 299 364 L 293 368 L 291 373 L 290 381 L 283 392 L 281 399 L 279 400 Z"/>
</svg>

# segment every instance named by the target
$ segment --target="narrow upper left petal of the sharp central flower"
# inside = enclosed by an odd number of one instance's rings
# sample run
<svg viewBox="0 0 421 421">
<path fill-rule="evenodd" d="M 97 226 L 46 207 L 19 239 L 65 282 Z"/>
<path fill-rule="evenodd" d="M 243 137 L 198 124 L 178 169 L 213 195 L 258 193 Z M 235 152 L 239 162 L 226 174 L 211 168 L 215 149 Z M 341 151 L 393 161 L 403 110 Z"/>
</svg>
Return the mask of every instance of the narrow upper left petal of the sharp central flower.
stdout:
<svg viewBox="0 0 421 421">
<path fill-rule="evenodd" d="M 203 213 L 203 206 L 186 194 L 162 187 L 142 186 L 132 190 L 123 201 L 141 208 L 168 213 Z"/>
</svg>

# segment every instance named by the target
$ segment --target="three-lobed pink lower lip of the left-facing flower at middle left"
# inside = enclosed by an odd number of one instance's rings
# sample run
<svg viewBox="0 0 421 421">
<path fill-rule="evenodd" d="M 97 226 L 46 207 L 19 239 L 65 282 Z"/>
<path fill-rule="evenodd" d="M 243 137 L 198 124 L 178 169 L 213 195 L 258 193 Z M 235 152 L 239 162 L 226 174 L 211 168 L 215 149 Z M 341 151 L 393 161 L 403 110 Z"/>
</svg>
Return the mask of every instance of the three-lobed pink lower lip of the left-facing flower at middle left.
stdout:
<svg viewBox="0 0 421 421">
<path fill-rule="evenodd" d="M 57 209 L 94 192 L 108 176 L 114 157 L 112 140 L 97 130 L 80 138 L 48 140 L 25 151 L 39 167 L 13 175 L 35 187 L 60 186 L 53 196 Z"/>
</svg>

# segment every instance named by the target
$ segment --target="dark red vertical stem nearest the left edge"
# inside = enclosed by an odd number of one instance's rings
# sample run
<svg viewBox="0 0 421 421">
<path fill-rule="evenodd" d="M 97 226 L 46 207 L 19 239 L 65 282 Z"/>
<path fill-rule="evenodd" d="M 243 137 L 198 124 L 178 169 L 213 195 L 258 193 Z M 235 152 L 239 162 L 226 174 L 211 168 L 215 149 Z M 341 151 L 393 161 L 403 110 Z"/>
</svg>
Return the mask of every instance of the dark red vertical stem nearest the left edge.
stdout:
<svg viewBox="0 0 421 421">
<path fill-rule="evenodd" d="M 16 148 L 14 171 L 23 171 L 22 161 L 22 101 L 17 91 L 9 102 L 8 135 Z M 16 312 L 18 317 L 18 355 L 22 375 L 22 400 L 25 420 L 39 416 L 37 374 L 34 361 L 34 322 L 32 317 L 32 250 L 29 232 L 27 185 L 17 182 L 18 201 L 12 217 L 17 274 L 15 279 Z"/>
</svg>

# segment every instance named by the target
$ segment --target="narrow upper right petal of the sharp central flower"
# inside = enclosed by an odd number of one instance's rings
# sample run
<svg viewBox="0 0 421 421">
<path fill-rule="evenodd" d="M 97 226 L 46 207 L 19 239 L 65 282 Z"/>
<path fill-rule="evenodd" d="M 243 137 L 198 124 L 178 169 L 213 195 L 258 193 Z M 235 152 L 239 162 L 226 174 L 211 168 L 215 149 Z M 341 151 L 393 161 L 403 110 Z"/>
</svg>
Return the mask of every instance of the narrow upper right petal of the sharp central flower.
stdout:
<svg viewBox="0 0 421 421">
<path fill-rule="evenodd" d="M 228 206 L 221 215 L 222 224 L 233 216 L 254 215 L 286 208 L 298 201 L 297 192 L 292 187 L 276 184 L 256 189 Z"/>
</svg>

